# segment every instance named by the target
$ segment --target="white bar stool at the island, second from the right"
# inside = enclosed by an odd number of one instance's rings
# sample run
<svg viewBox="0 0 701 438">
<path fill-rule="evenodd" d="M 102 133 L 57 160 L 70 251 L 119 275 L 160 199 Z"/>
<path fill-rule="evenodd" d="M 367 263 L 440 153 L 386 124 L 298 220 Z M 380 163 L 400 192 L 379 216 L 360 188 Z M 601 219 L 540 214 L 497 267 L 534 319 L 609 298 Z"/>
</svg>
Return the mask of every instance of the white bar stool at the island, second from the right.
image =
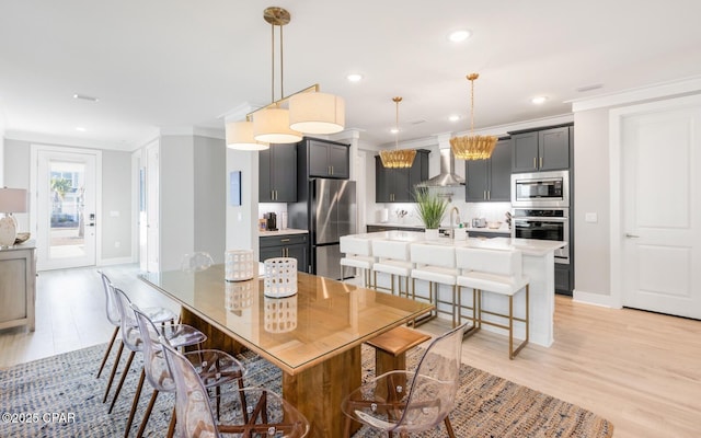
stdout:
<svg viewBox="0 0 701 438">
<path fill-rule="evenodd" d="M 436 318 L 438 313 L 446 313 L 451 316 L 452 326 L 456 327 L 456 286 L 459 272 L 456 268 L 455 247 L 440 243 L 413 243 L 410 245 L 410 249 L 411 261 L 414 264 L 411 274 L 412 298 L 416 299 L 416 280 L 428 281 L 428 301 L 436 307 L 432 316 L 421 320 L 420 322 L 424 323 L 428 321 L 428 319 Z M 436 285 L 435 291 L 434 285 Z M 438 285 L 448 285 L 451 287 L 450 301 L 440 299 Z M 440 304 L 447 304 L 450 311 L 441 309 Z"/>
</svg>

